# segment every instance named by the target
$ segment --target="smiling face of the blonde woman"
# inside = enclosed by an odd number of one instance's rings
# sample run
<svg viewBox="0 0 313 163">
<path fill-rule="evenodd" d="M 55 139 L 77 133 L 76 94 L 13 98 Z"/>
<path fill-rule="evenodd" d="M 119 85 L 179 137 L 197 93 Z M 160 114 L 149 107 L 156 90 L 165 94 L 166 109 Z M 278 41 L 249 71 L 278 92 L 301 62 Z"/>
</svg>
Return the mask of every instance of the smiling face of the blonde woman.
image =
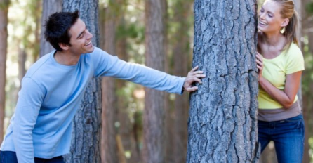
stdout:
<svg viewBox="0 0 313 163">
<path fill-rule="evenodd" d="M 285 26 L 281 18 L 281 5 L 272 0 L 266 0 L 258 13 L 258 30 L 268 32 L 279 32 Z M 287 23 L 288 24 L 288 23 Z"/>
</svg>

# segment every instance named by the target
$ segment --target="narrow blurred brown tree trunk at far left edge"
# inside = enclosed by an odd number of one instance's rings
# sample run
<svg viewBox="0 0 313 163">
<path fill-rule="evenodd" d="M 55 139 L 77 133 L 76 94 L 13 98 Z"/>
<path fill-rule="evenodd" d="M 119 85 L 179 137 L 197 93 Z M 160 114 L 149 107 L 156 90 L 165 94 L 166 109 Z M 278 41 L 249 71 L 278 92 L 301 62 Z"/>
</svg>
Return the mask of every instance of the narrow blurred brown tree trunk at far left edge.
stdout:
<svg viewBox="0 0 313 163">
<path fill-rule="evenodd" d="M 8 5 L 9 0 L 0 0 L 0 143 L 4 139 L 4 108 L 6 101 L 6 48 L 8 45 Z"/>
</svg>

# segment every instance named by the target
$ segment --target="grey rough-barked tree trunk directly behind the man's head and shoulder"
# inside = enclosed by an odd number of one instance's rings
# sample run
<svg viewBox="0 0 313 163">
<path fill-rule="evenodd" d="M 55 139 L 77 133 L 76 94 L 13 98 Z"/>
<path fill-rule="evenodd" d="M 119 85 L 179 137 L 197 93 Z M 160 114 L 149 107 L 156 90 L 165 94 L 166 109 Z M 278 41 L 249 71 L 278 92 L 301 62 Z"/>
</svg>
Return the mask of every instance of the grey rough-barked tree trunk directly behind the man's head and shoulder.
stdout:
<svg viewBox="0 0 313 163">
<path fill-rule="evenodd" d="M 63 0 L 63 11 L 79 9 L 79 17 L 93 34 L 93 45 L 99 46 L 98 0 Z M 92 79 L 74 117 L 74 130 L 70 154 L 66 162 L 98 163 L 101 140 L 101 89 L 100 78 Z"/>
</svg>

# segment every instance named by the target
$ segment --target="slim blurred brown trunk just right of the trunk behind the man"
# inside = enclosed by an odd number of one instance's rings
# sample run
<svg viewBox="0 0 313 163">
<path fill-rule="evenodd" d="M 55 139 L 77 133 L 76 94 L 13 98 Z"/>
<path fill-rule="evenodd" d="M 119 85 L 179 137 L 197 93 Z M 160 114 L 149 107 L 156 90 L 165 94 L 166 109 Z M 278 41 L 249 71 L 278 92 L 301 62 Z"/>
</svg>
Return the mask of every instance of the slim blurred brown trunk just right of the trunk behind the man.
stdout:
<svg viewBox="0 0 313 163">
<path fill-rule="evenodd" d="M 103 49 L 115 55 L 115 13 L 114 0 L 109 0 L 109 6 L 105 9 L 105 41 Z M 117 163 L 116 147 L 116 94 L 115 79 L 112 77 L 102 78 L 102 162 Z"/>
</svg>

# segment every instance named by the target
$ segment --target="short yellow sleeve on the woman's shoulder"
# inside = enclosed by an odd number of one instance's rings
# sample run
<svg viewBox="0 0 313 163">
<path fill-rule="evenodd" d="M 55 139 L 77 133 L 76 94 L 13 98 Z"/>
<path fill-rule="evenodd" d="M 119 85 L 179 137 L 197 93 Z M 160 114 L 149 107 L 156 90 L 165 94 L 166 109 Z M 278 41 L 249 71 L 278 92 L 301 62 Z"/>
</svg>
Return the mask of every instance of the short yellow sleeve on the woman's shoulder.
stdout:
<svg viewBox="0 0 313 163">
<path fill-rule="evenodd" d="M 300 48 L 291 45 L 287 55 L 286 74 L 305 70 L 305 61 Z"/>
</svg>

